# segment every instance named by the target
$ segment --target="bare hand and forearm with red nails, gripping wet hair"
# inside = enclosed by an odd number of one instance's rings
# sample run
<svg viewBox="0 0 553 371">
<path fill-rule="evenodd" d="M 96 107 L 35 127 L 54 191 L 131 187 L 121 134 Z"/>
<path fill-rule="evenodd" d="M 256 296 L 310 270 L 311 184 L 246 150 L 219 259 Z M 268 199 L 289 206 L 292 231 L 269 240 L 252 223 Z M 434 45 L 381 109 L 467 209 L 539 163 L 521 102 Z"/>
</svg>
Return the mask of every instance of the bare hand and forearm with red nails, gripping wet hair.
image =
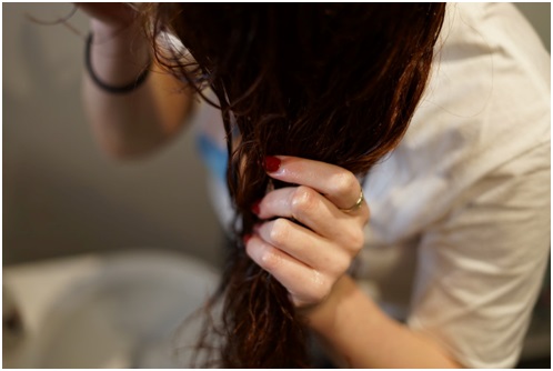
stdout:
<svg viewBox="0 0 553 371">
<path fill-rule="evenodd" d="M 258 215 L 273 220 L 257 228 L 247 252 L 288 289 L 336 361 L 351 368 L 460 368 L 431 339 L 389 318 L 346 274 L 370 217 L 366 202 L 343 210 L 359 200 L 356 178 L 333 164 L 276 158 L 280 167 L 269 176 L 299 186 L 261 200 Z"/>
</svg>

